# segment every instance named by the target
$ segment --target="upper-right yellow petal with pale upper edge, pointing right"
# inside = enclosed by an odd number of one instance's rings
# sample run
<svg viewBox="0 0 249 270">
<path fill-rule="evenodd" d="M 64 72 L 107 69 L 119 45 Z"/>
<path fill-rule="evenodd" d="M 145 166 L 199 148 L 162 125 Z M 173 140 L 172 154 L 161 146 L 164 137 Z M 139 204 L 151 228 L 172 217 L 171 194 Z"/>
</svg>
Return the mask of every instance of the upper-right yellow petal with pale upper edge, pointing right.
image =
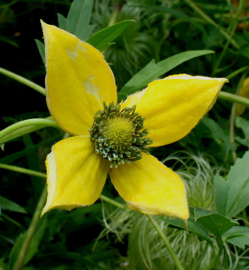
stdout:
<svg viewBox="0 0 249 270">
<path fill-rule="evenodd" d="M 211 109 L 225 82 L 186 74 L 173 75 L 149 83 L 148 88 L 128 97 L 122 107 L 137 105 L 145 117 L 151 147 L 176 142 L 186 136 Z"/>
</svg>

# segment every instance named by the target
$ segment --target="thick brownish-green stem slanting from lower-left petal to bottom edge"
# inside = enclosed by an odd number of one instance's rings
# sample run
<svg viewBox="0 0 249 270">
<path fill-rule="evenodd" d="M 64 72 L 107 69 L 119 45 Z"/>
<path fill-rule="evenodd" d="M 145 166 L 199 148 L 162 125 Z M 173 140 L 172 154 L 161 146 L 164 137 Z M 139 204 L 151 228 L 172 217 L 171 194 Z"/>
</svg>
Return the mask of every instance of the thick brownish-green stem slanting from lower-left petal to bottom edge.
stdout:
<svg viewBox="0 0 249 270">
<path fill-rule="evenodd" d="M 26 237 L 23 241 L 22 247 L 19 251 L 18 257 L 16 259 L 15 264 L 13 265 L 13 270 L 20 270 L 23 267 L 23 262 L 26 256 L 26 252 L 29 248 L 29 244 L 32 240 L 33 235 L 36 232 L 36 229 L 38 227 L 38 224 L 41 219 L 41 211 L 46 203 L 46 198 L 47 198 L 47 187 L 45 186 L 42 193 L 41 197 L 39 199 L 39 202 L 37 204 L 37 207 L 35 209 L 35 213 L 33 215 L 33 218 L 31 220 L 31 223 L 29 225 L 29 228 L 26 233 Z"/>
</svg>

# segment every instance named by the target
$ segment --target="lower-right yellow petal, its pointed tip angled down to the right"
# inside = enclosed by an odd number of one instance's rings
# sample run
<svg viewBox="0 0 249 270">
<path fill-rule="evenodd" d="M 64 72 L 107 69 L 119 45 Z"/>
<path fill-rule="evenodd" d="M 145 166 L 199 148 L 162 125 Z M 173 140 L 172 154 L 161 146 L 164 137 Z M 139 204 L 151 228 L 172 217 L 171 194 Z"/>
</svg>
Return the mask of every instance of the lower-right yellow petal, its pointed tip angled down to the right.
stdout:
<svg viewBox="0 0 249 270">
<path fill-rule="evenodd" d="M 179 176 L 155 157 L 110 170 L 111 180 L 128 207 L 144 214 L 188 219 L 187 199 Z"/>
</svg>

